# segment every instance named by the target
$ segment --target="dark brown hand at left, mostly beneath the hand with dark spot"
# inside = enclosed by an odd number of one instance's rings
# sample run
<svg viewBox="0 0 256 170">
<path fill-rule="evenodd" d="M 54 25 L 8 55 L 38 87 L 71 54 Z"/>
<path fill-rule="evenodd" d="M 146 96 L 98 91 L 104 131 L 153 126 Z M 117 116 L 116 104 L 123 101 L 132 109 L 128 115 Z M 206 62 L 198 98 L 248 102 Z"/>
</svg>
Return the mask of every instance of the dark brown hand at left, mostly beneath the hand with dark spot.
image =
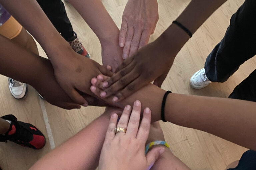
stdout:
<svg viewBox="0 0 256 170">
<path fill-rule="evenodd" d="M 81 106 L 75 103 L 64 92 L 54 77 L 54 72 L 49 60 L 42 58 L 43 67 L 40 70 L 44 70 L 42 75 L 39 75 L 40 79 L 35 80 L 31 85 L 38 91 L 40 95 L 44 97 L 52 105 L 61 107 L 63 109 L 79 109 Z M 108 106 L 105 102 L 102 102 L 90 95 L 82 94 L 82 96 L 88 101 L 89 105 L 93 106 Z"/>
</svg>

